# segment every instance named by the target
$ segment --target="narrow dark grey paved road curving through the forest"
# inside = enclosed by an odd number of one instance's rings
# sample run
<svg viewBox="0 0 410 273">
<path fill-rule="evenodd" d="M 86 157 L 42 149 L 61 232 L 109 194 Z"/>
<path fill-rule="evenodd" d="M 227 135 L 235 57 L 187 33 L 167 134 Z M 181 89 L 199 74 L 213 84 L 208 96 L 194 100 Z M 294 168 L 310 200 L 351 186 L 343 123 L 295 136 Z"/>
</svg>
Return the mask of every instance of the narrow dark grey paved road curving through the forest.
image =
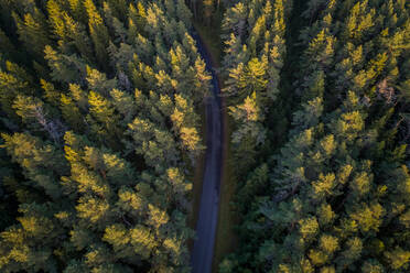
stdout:
<svg viewBox="0 0 410 273">
<path fill-rule="evenodd" d="M 197 47 L 212 74 L 213 94 L 206 101 L 206 159 L 201 196 L 196 240 L 192 253 L 193 273 L 211 273 L 214 256 L 216 225 L 218 220 L 219 186 L 222 168 L 222 112 L 219 84 L 212 68 L 211 56 L 201 39 L 193 34 Z"/>
</svg>

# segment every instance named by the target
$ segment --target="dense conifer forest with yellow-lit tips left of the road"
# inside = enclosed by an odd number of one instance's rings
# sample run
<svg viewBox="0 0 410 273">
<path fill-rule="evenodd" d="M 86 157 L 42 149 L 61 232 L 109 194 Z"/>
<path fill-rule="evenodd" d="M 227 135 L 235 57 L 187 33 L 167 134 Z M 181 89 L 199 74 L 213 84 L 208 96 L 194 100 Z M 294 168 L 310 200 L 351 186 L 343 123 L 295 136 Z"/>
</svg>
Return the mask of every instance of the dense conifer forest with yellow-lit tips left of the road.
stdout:
<svg viewBox="0 0 410 273">
<path fill-rule="evenodd" d="M 0 0 L 1 272 L 190 272 L 209 89 L 183 0 Z"/>
</svg>

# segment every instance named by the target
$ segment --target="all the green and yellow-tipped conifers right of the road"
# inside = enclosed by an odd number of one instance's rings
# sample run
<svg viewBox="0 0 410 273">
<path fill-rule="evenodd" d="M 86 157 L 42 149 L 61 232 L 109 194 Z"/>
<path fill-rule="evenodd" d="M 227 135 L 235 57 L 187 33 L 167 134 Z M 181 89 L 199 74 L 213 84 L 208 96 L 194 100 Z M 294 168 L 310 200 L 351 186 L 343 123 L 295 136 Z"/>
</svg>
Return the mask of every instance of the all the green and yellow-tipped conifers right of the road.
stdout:
<svg viewBox="0 0 410 273">
<path fill-rule="evenodd" d="M 231 141 L 253 159 L 257 132 L 272 130 L 261 117 L 278 107 L 268 100 L 278 94 L 269 88 L 278 74 L 269 72 L 280 69 L 274 62 L 285 51 L 258 41 L 282 41 L 284 25 L 294 23 L 278 15 L 282 0 L 269 2 L 241 1 L 225 18 Z M 294 12 L 305 20 L 298 41 L 304 50 L 292 64 L 300 70 L 293 92 L 281 96 L 301 102 L 284 146 L 259 157 L 240 183 L 240 247 L 220 272 L 408 272 L 409 3 L 311 0 Z M 247 42 L 237 42 L 242 35 Z M 251 136 L 253 146 L 244 143 Z M 247 155 L 236 159 L 244 160 L 248 165 Z"/>
</svg>

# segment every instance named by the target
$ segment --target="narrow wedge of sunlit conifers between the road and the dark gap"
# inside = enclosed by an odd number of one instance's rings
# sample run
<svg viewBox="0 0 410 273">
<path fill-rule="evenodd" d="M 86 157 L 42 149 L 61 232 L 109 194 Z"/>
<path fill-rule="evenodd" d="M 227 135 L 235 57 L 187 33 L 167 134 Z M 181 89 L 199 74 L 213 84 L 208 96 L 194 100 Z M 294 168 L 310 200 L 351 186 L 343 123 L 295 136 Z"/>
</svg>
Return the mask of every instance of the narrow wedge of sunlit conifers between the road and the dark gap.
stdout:
<svg viewBox="0 0 410 273">
<path fill-rule="evenodd" d="M 239 1 L 226 11 L 223 90 L 235 120 L 235 160 L 244 174 L 268 133 L 265 121 L 279 94 L 285 54 L 285 17 L 290 1 Z"/>
</svg>

